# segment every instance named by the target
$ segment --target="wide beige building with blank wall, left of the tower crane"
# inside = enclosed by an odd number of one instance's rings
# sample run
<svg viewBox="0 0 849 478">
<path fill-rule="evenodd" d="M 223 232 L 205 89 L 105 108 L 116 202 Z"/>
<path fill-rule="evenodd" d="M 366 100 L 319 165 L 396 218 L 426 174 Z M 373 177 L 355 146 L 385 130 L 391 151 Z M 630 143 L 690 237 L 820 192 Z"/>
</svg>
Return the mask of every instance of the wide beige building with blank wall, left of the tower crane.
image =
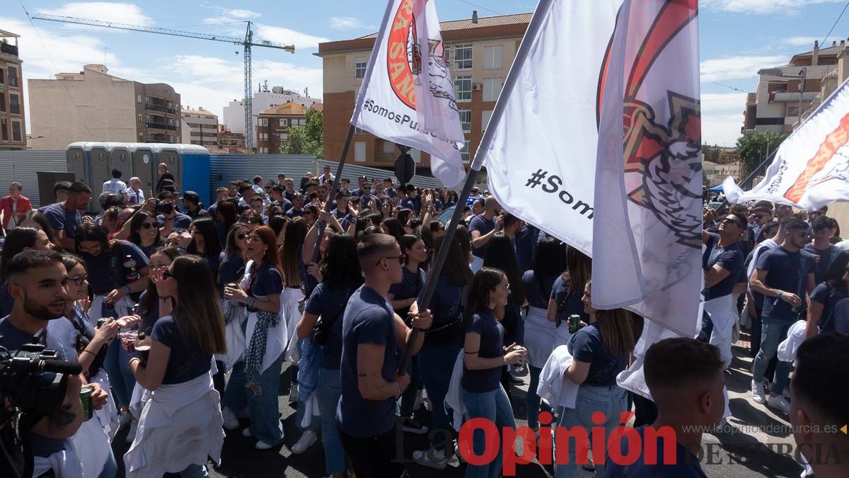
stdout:
<svg viewBox="0 0 849 478">
<path fill-rule="evenodd" d="M 180 95 L 166 83 L 138 83 L 85 65 L 53 80 L 29 80 L 34 149 L 74 141 L 179 143 Z M 42 136 L 42 138 L 38 138 Z"/>
</svg>

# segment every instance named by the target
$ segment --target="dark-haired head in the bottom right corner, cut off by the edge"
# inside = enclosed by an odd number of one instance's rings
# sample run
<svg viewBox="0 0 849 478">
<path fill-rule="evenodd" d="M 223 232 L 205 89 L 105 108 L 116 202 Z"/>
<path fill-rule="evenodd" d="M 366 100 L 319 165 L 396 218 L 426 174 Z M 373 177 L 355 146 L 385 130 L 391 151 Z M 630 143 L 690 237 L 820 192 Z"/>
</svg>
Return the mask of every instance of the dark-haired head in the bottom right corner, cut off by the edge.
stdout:
<svg viewBox="0 0 849 478">
<path fill-rule="evenodd" d="M 796 350 L 790 382 L 790 423 L 799 452 L 817 478 L 849 469 L 849 335 L 821 333 Z"/>
</svg>

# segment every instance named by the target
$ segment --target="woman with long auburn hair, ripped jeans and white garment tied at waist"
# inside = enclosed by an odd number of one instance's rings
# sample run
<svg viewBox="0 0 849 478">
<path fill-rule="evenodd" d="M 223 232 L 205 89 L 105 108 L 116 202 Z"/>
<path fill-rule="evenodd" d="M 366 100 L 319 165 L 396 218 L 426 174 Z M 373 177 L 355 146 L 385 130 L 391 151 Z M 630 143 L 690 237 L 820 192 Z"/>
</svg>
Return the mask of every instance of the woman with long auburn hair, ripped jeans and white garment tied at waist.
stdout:
<svg viewBox="0 0 849 478">
<path fill-rule="evenodd" d="M 284 275 L 280 270 L 277 237 L 268 226 L 250 231 L 247 237 L 246 279 L 240 287 L 225 287 L 224 298 L 248 306 L 245 329 L 247 349 L 245 359 L 233 367 L 225 406 L 241 410 L 245 401 L 250 410 L 250 427 L 245 436 L 256 437 L 256 449 L 267 450 L 283 442 L 277 393 L 280 387 L 280 367 L 289 333 L 280 313 L 284 291 Z M 235 390 L 239 384 L 246 389 Z M 240 395 L 240 396 L 239 396 Z"/>
</svg>

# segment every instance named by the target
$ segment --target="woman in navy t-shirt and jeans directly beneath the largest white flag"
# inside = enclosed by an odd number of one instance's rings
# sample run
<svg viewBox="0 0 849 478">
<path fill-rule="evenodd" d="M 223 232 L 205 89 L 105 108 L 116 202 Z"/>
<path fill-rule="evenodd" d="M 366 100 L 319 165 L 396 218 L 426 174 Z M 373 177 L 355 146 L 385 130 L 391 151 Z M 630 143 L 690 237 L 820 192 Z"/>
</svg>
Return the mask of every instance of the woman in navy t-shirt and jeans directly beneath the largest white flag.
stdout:
<svg viewBox="0 0 849 478">
<path fill-rule="evenodd" d="M 591 283 L 588 282 L 584 295 L 591 303 Z M 619 425 L 619 416 L 627 409 L 627 393 L 616 384 L 616 375 L 628 366 L 628 357 L 634 348 L 631 329 L 631 312 L 625 309 L 596 310 L 595 322 L 582 327 L 572 335 L 569 342 L 571 365 L 563 373 L 564 378 L 580 385 L 574 408 L 563 408 L 558 426 L 566 430 L 582 427 L 592 433 L 594 427 L 604 427 L 604 435 L 609 436 Z M 593 420 L 595 412 L 604 413 L 604 423 Z M 570 439 L 571 440 L 571 439 Z M 557 465 L 558 478 L 571 478 L 576 475 L 576 447 L 584 446 L 571 440 L 567 444 L 569 461 Z M 594 441 L 594 440 L 593 440 Z M 605 439 L 604 443 L 607 442 Z M 592 447 L 592 443 L 590 444 Z M 606 450 L 593 450 L 596 457 L 603 456 Z M 595 468 L 599 476 L 604 476 L 604 464 L 596 460 Z"/>
</svg>

